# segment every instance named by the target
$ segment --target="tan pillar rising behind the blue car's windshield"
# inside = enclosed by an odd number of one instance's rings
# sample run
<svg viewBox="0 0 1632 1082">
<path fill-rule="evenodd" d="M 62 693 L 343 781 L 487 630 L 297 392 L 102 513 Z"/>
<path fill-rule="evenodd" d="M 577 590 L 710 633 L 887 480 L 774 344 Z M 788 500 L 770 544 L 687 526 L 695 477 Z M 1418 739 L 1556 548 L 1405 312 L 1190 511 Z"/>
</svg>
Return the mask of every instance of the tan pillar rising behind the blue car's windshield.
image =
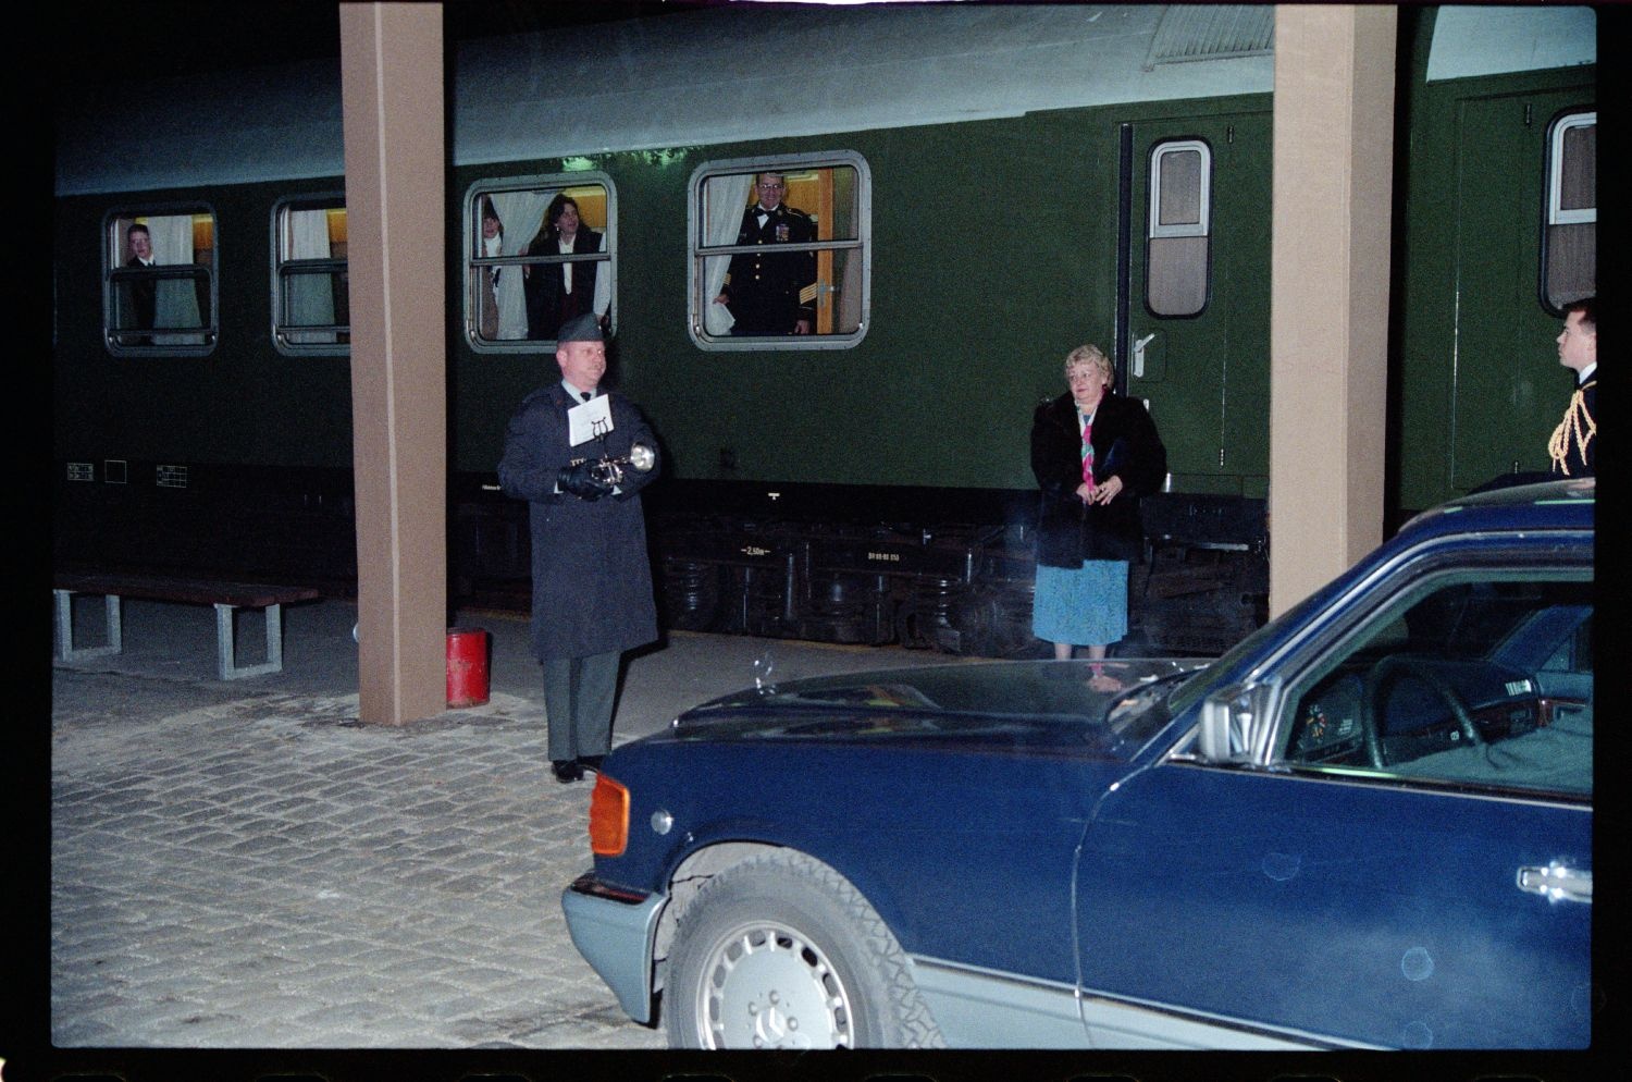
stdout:
<svg viewBox="0 0 1632 1082">
<path fill-rule="evenodd" d="M 1275 10 L 1270 614 L 1382 540 L 1392 7 Z"/>
</svg>

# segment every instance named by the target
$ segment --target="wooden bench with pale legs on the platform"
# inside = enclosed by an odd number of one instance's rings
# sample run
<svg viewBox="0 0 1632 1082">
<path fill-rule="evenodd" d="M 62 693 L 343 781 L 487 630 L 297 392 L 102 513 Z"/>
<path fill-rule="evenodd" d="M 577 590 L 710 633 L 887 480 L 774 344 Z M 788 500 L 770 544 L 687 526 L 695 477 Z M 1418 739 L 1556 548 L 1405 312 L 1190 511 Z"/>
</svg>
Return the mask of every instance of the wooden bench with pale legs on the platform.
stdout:
<svg viewBox="0 0 1632 1082">
<path fill-rule="evenodd" d="M 119 619 L 121 597 L 171 601 L 193 605 L 215 605 L 215 671 L 224 681 L 238 681 L 284 669 L 282 607 L 295 601 L 313 601 L 322 594 L 307 586 L 268 586 L 263 583 L 224 583 L 214 579 L 165 578 L 153 574 L 96 574 L 57 571 L 52 576 L 57 597 L 57 658 L 100 658 L 124 648 Z M 100 594 L 108 605 L 108 641 L 101 646 L 73 646 L 73 594 Z M 266 661 L 237 664 L 233 612 L 266 610 Z"/>
</svg>

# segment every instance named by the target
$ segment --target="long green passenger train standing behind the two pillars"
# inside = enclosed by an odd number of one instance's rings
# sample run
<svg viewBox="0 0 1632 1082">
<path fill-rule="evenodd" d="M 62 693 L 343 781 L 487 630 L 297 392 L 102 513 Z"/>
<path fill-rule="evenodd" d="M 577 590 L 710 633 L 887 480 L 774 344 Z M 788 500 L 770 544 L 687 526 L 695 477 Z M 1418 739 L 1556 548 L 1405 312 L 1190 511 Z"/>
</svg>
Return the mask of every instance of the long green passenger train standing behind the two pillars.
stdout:
<svg viewBox="0 0 1632 1082">
<path fill-rule="evenodd" d="M 666 452 L 669 627 L 1031 650 L 1030 418 L 1092 341 L 1169 450 L 1133 645 L 1227 646 L 1266 594 L 1273 18 L 700 8 L 459 41 L 454 596 L 526 602 L 494 465 L 574 281 Z M 1596 286 L 1596 15 L 1405 8 L 1400 57 L 1394 517 L 1546 467 L 1550 328 Z M 338 59 L 64 95 L 59 563 L 354 583 L 339 118 Z M 813 224 L 808 335 L 715 302 L 765 171 Z"/>
</svg>

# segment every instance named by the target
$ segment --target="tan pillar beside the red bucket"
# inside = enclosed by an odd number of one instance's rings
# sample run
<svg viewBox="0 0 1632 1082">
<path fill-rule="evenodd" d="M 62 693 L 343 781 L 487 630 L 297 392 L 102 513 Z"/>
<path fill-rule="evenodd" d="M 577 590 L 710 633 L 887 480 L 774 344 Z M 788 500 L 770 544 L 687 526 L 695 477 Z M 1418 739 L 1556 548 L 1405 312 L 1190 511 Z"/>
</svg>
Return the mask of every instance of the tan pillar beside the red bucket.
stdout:
<svg viewBox="0 0 1632 1082">
<path fill-rule="evenodd" d="M 447 708 L 442 5 L 341 3 L 367 723 Z"/>
</svg>

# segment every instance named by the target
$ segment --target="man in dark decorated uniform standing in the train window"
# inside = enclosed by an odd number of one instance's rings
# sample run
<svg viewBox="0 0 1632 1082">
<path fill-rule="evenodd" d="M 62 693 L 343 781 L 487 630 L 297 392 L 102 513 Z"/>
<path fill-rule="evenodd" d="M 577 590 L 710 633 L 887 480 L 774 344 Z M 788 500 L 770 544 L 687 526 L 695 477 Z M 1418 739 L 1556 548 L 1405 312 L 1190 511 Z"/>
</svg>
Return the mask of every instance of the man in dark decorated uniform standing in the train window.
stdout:
<svg viewBox="0 0 1632 1082">
<path fill-rule="evenodd" d="M 743 212 L 736 243 L 767 250 L 731 256 L 715 304 L 731 310 L 733 335 L 809 335 L 816 326 L 816 253 L 769 248 L 816 240 L 816 224 L 782 202 L 788 191 L 782 173 L 761 173 L 754 189 L 759 202 Z"/>
</svg>

